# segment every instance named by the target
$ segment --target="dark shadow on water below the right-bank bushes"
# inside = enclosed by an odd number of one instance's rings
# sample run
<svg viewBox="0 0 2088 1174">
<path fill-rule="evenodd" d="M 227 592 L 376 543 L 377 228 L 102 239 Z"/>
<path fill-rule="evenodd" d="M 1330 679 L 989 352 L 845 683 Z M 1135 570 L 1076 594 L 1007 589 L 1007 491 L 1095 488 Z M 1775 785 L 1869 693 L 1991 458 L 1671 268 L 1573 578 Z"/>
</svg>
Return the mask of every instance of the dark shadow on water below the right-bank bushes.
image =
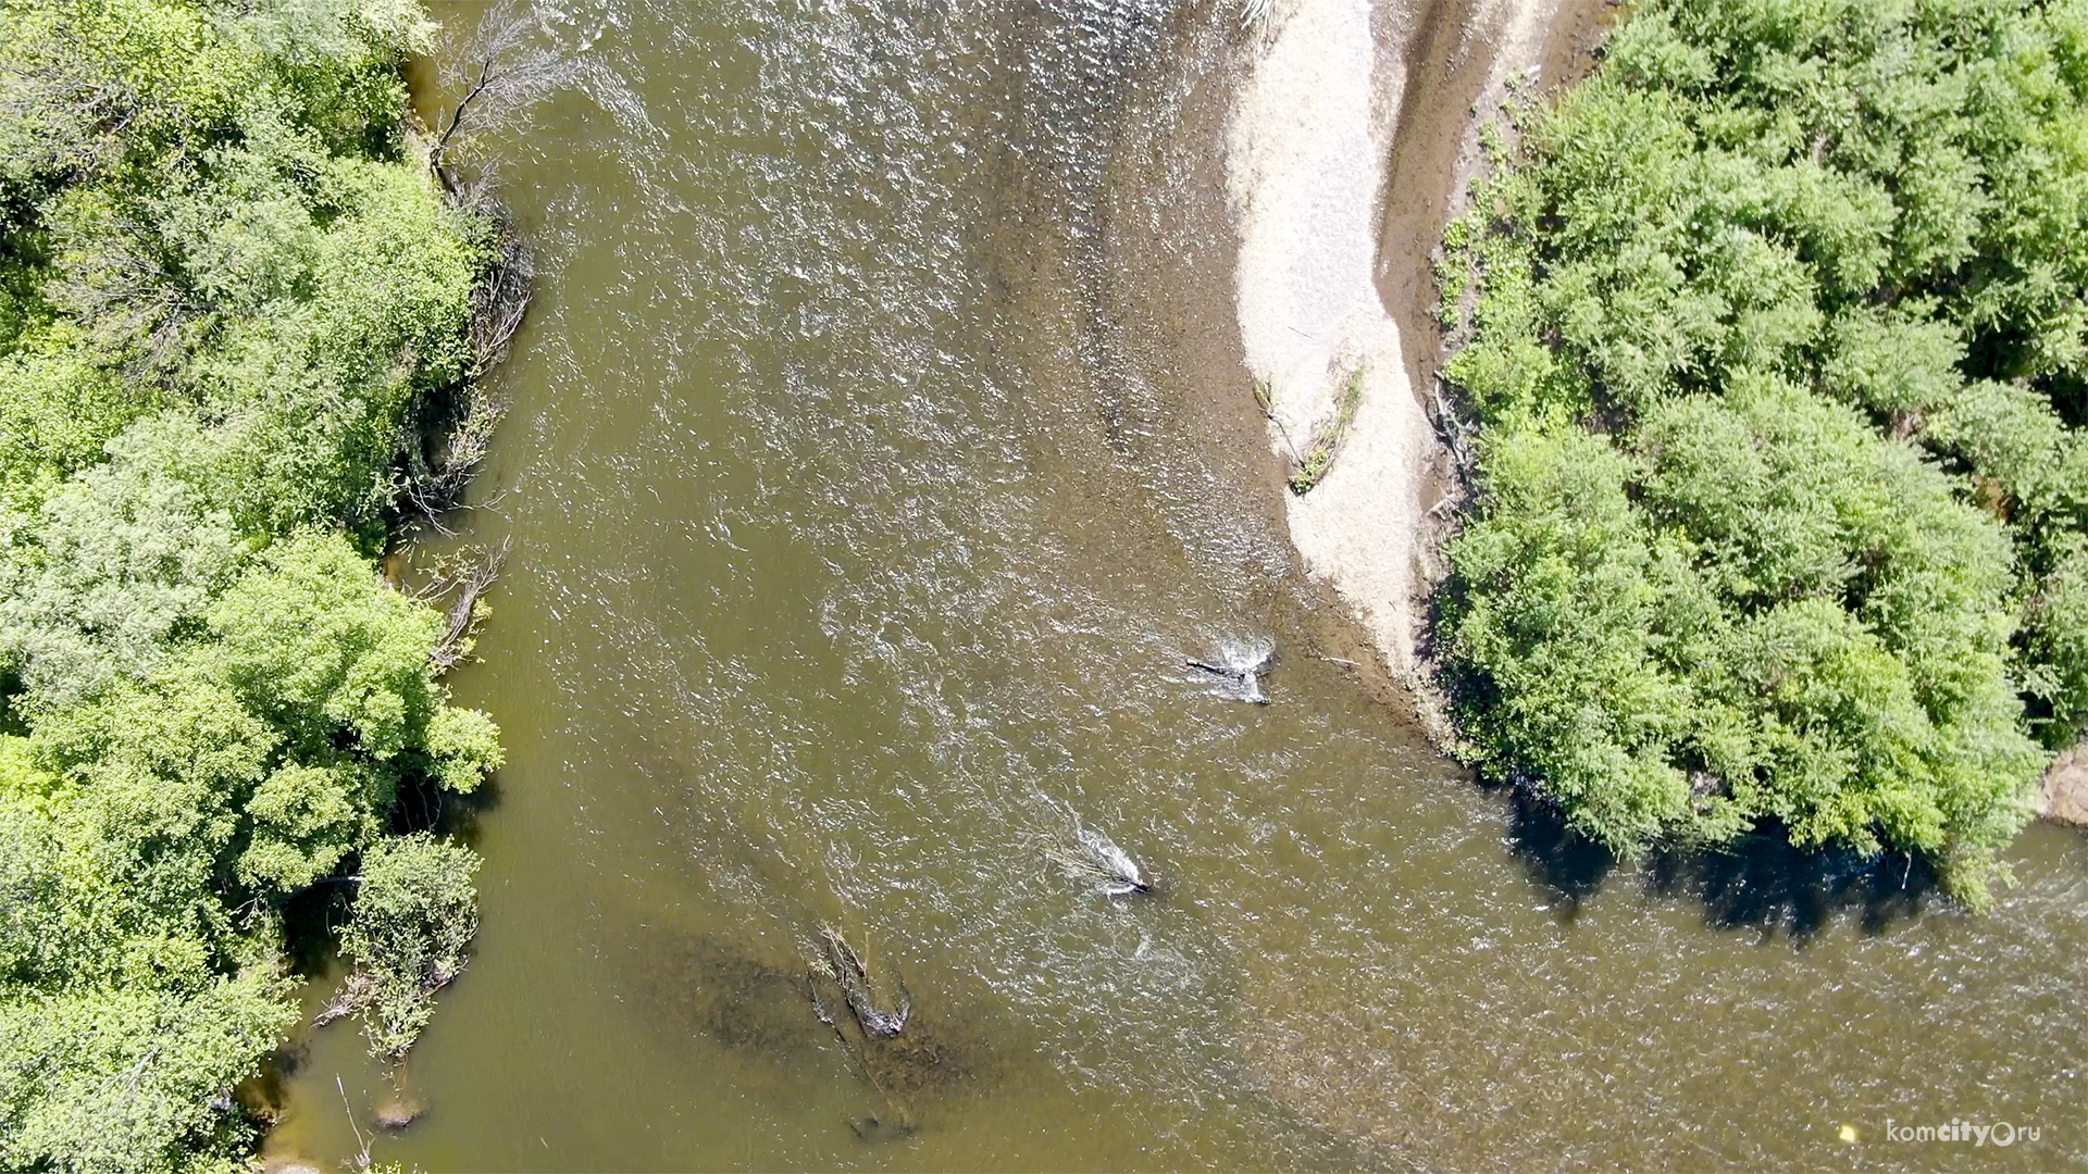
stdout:
<svg viewBox="0 0 2088 1174">
<path fill-rule="evenodd" d="M 1564 921 L 1595 896 L 1618 859 L 1576 831 L 1535 788 L 1510 788 L 1508 842 Z M 1936 867 L 1898 850 L 1865 856 L 1852 848 L 1802 848 L 1781 823 L 1764 823 L 1731 844 L 1666 848 L 1643 869 L 1650 892 L 1693 898 L 1716 930 L 1785 932 L 1794 944 L 1854 911 L 1865 934 L 1911 921 L 1940 894 Z"/>
</svg>

